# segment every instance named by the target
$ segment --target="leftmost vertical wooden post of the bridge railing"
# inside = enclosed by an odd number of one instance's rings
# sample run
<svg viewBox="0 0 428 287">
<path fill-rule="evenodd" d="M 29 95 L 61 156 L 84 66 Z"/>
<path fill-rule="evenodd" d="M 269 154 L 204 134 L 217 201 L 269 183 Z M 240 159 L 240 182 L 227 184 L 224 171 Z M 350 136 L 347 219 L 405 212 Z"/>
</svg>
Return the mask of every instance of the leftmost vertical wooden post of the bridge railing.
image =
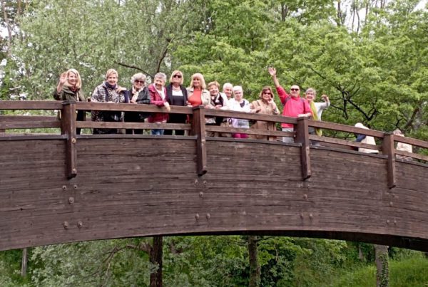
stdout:
<svg viewBox="0 0 428 287">
<path fill-rule="evenodd" d="M 63 102 L 61 134 L 66 135 L 66 177 L 71 179 L 77 175 L 76 102 L 73 100 Z"/>
</svg>

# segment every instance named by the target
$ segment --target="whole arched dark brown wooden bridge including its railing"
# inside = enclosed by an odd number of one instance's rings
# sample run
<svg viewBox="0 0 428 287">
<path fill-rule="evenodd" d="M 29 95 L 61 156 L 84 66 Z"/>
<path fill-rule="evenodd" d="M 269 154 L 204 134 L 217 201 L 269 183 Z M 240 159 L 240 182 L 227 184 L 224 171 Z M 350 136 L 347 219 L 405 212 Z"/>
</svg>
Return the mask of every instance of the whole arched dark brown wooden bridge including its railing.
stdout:
<svg viewBox="0 0 428 287">
<path fill-rule="evenodd" d="M 0 115 L 0 250 L 131 236 L 272 234 L 428 251 L 428 157 L 394 149 L 394 142 L 421 150 L 428 142 L 204 108 L 173 107 L 171 113 L 190 115 L 191 125 L 75 120 L 76 110 L 159 112 L 151 105 L 3 101 L 0 110 L 62 114 L 61 120 Z M 205 115 L 290 122 L 295 143 L 207 137 L 207 131 L 292 134 L 208 126 Z M 42 127 L 57 132 L 12 133 Z M 76 135 L 76 127 L 161 127 L 188 135 Z M 308 127 L 371 135 L 379 145 L 309 135 Z"/>
</svg>

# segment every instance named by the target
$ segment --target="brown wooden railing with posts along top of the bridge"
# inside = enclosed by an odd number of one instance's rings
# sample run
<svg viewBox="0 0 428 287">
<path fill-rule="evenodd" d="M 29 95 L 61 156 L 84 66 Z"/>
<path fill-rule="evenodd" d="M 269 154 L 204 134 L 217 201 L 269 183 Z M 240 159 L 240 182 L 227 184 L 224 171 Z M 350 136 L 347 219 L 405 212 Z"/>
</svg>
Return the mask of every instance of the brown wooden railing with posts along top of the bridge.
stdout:
<svg viewBox="0 0 428 287">
<path fill-rule="evenodd" d="M 206 132 L 221 133 L 245 133 L 248 135 L 263 135 L 266 138 L 295 137 L 293 145 L 300 146 L 302 160 L 302 177 L 310 177 L 310 147 L 311 141 L 318 142 L 321 146 L 338 147 L 345 150 L 357 150 L 359 147 L 377 150 L 383 156 L 388 157 L 389 186 L 394 186 L 394 165 L 398 157 L 396 155 L 428 162 L 428 156 L 396 150 L 397 142 L 407 143 L 419 149 L 428 149 L 428 142 L 416 140 L 409 137 L 394 136 L 391 132 L 380 132 L 377 130 L 366 130 L 359 127 L 341 125 L 334 122 L 320 122 L 307 118 L 287 118 L 281 115 L 260 115 L 257 113 L 234 112 L 230 110 L 206 109 L 203 107 L 177 107 L 172 106 L 168 111 L 166 108 L 158 108 L 155 105 L 129 105 L 124 103 L 76 103 L 73 101 L 0 101 L 0 110 L 61 110 L 61 118 L 56 116 L 29 116 L 29 115 L 0 115 L 0 132 L 10 129 L 34 129 L 34 128 L 58 128 L 61 135 L 67 139 L 68 160 L 76 160 L 76 149 L 73 148 L 78 135 L 76 128 L 113 128 L 113 129 L 165 129 L 185 130 L 186 136 L 193 137 L 198 147 L 198 174 L 206 172 Z M 92 122 L 89 117 L 86 120 L 76 120 L 76 111 L 99 110 L 99 111 L 121 111 L 141 113 L 175 113 L 188 115 L 190 123 L 151 123 L 151 122 Z M 253 121 L 265 121 L 276 123 L 289 123 L 295 126 L 295 132 L 282 132 L 280 130 L 243 129 L 235 127 L 222 127 L 216 125 L 205 125 L 205 117 L 240 118 Z M 377 138 L 377 145 L 369 145 L 351 140 L 317 136 L 309 134 L 309 127 L 345 132 L 348 134 L 361 134 Z M 85 135 L 88 137 L 88 135 Z M 99 135 L 91 135 L 97 137 Z M 124 137 L 125 135 L 103 135 L 108 137 Z M 131 135 L 126 135 L 126 137 Z M 144 137 L 133 135 L 135 137 Z M 210 137 L 208 137 L 209 139 Z M 205 156 L 204 156 L 205 155 Z M 76 171 L 73 164 L 70 165 L 68 176 L 73 177 Z"/>
</svg>

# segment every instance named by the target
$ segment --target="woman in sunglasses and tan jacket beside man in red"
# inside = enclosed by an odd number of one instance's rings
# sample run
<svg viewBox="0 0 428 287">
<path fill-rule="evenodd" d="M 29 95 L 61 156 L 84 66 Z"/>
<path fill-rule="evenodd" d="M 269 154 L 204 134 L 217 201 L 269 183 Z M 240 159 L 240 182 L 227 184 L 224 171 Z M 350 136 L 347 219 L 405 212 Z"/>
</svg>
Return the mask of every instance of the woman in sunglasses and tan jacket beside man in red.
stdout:
<svg viewBox="0 0 428 287">
<path fill-rule="evenodd" d="M 279 115 L 280 110 L 278 110 L 277 105 L 272 100 L 273 92 L 270 86 L 265 86 L 260 91 L 259 100 L 255 100 L 250 104 L 250 109 L 252 113 L 260 113 L 263 115 Z M 262 120 L 256 121 L 252 126 L 252 129 L 258 130 L 276 130 L 275 122 L 264 122 Z M 258 140 L 275 140 L 275 137 L 267 137 L 265 135 L 252 135 L 251 137 Z"/>
</svg>

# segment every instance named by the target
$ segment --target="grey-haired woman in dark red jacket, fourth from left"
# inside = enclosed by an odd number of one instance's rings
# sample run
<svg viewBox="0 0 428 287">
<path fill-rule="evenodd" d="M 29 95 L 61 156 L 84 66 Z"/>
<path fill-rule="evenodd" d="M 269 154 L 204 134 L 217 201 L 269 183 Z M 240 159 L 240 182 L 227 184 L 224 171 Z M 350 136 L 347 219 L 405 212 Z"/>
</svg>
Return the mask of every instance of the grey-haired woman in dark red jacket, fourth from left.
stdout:
<svg viewBox="0 0 428 287">
<path fill-rule="evenodd" d="M 150 93 L 151 105 L 157 105 L 158 107 L 165 107 L 168 111 L 170 105 L 165 89 L 166 75 L 164 73 L 157 73 L 154 78 L 154 83 L 148 86 L 148 92 Z M 148 122 L 164 123 L 168 120 L 167 113 L 152 113 L 148 117 Z M 151 130 L 152 135 L 163 135 L 163 129 Z"/>
</svg>

